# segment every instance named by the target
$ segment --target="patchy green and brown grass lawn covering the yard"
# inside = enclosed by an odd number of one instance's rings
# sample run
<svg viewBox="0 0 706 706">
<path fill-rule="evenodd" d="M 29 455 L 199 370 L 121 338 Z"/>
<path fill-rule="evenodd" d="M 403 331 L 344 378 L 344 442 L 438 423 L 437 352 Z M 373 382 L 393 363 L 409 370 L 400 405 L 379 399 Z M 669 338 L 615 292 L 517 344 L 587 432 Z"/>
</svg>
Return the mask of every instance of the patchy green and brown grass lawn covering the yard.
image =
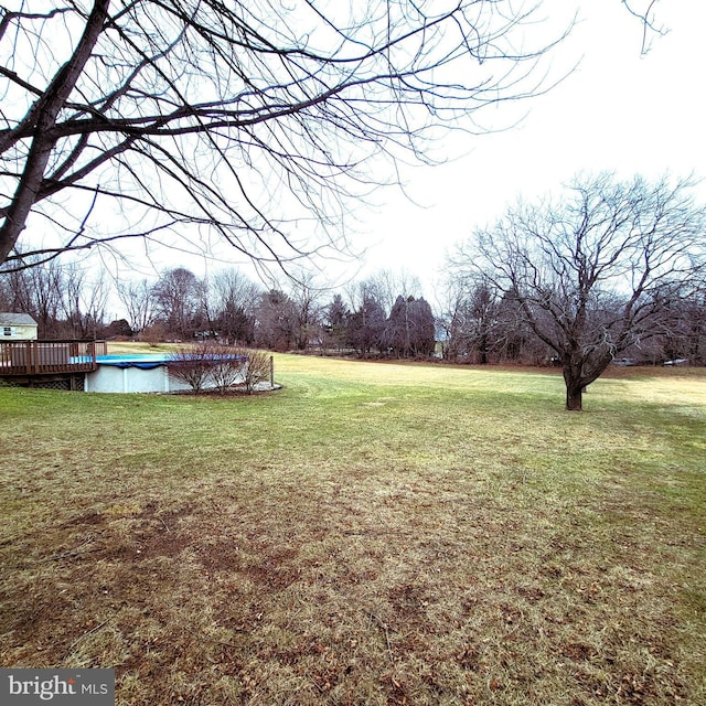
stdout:
<svg viewBox="0 0 706 706">
<path fill-rule="evenodd" d="M 0 388 L 0 665 L 118 704 L 706 703 L 706 373 Z"/>
</svg>

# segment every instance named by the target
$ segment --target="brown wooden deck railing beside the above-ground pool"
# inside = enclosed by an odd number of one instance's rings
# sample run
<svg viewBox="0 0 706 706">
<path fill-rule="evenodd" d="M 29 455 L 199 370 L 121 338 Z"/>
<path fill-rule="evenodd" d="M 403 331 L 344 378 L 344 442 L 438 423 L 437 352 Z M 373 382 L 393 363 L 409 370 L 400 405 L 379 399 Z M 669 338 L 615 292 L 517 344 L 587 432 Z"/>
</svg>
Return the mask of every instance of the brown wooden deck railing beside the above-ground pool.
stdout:
<svg viewBox="0 0 706 706">
<path fill-rule="evenodd" d="M 106 355 L 105 341 L 2 341 L 0 377 L 89 373 L 96 355 Z"/>
</svg>

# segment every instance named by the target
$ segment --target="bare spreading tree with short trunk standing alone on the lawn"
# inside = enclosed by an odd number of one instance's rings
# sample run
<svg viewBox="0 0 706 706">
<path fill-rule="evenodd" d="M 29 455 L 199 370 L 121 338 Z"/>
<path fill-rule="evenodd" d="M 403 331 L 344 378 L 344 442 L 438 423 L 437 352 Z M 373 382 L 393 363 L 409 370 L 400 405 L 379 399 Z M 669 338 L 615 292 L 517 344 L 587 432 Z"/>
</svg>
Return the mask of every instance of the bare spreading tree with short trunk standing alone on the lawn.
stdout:
<svg viewBox="0 0 706 706">
<path fill-rule="evenodd" d="M 558 357 L 567 409 L 581 409 L 617 355 L 663 333 L 670 302 L 703 281 L 706 208 L 692 186 L 579 178 L 559 203 L 520 203 L 460 248 L 457 266 L 515 301 Z"/>
</svg>

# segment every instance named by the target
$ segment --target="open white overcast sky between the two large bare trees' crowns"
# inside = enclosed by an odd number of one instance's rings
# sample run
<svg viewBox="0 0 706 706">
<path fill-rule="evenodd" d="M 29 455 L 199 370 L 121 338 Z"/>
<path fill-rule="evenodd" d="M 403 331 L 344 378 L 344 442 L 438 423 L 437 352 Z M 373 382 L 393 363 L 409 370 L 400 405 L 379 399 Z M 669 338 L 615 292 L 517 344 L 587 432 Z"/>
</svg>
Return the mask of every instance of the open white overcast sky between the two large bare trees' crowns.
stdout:
<svg viewBox="0 0 706 706">
<path fill-rule="evenodd" d="M 668 33 L 653 36 L 644 56 L 642 28 L 620 0 L 576 4 L 579 22 L 554 63 L 568 68 L 582 57 L 580 65 L 548 95 L 523 103 L 530 113 L 518 127 L 454 136 L 446 151 L 461 157 L 407 169 L 407 192 L 422 206 L 391 190 L 377 194 L 384 205 L 376 212 L 357 214 L 359 231 L 373 243 L 364 274 L 402 267 L 430 288 L 453 243 L 498 218 L 520 194 L 544 195 L 579 171 L 706 175 L 706 2 L 661 0 L 655 12 Z M 507 115 L 499 109 L 498 124 Z M 700 193 L 706 201 L 706 188 Z"/>
</svg>

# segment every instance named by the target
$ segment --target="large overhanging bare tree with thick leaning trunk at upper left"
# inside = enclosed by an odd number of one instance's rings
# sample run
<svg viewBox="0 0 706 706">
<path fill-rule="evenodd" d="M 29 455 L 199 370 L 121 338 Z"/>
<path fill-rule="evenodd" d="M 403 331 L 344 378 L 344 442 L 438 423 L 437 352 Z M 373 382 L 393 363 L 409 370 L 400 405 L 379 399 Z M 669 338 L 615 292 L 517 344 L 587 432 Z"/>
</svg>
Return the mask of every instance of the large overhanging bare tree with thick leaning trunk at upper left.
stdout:
<svg viewBox="0 0 706 706">
<path fill-rule="evenodd" d="M 341 248 L 346 200 L 395 181 L 378 157 L 427 159 L 438 128 L 478 131 L 477 110 L 544 87 L 537 64 L 555 42 L 535 11 L 511 0 L 9 0 L 0 264 L 120 238 L 193 252 L 216 236 L 279 263 Z M 319 224 L 313 239 L 299 235 L 302 218 Z M 22 235 L 29 223 L 47 239 Z"/>
</svg>

